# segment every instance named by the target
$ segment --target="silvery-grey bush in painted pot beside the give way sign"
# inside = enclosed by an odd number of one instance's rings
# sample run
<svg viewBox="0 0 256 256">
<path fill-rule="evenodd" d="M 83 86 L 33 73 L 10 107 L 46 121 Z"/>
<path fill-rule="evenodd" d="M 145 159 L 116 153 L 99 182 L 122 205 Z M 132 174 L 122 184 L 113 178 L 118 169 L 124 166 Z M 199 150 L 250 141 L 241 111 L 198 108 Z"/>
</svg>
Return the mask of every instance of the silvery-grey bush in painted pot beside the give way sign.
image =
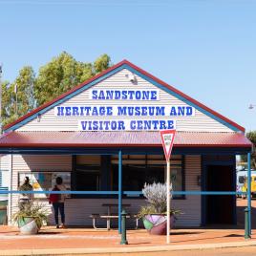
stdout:
<svg viewBox="0 0 256 256">
<path fill-rule="evenodd" d="M 170 193 L 172 187 L 170 187 Z M 167 227 L 166 217 L 166 184 L 152 183 L 144 184 L 142 194 L 149 203 L 145 206 L 141 206 L 139 209 L 139 218 L 142 219 L 144 227 L 150 234 L 165 235 Z M 172 195 L 171 195 L 172 198 Z M 179 210 L 170 211 L 170 228 L 174 226 L 176 214 L 180 213 Z"/>
</svg>

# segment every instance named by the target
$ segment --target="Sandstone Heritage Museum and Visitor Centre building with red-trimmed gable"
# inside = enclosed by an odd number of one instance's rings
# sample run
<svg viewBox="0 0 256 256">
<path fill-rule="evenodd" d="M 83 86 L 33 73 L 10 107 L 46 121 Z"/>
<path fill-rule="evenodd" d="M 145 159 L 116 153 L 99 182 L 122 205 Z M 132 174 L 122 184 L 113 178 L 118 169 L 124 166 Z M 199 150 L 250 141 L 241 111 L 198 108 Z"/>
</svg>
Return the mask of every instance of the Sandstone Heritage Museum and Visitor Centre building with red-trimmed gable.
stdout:
<svg viewBox="0 0 256 256">
<path fill-rule="evenodd" d="M 4 127 L 0 153 L 8 156 L 11 190 L 25 176 L 34 190 L 48 190 L 61 175 L 74 191 L 122 194 L 135 213 L 145 203 L 144 182 L 165 179 L 160 129 L 177 130 L 175 191 L 235 191 L 235 156 L 251 150 L 245 129 L 127 60 Z M 104 213 L 102 203 L 117 203 L 117 195 L 71 195 L 67 224 L 92 225 L 89 215 Z M 9 197 L 9 216 L 17 197 Z M 171 206 L 183 212 L 182 226 L 236 222 L 235 196 L 177 195 Z"/>
</svg>

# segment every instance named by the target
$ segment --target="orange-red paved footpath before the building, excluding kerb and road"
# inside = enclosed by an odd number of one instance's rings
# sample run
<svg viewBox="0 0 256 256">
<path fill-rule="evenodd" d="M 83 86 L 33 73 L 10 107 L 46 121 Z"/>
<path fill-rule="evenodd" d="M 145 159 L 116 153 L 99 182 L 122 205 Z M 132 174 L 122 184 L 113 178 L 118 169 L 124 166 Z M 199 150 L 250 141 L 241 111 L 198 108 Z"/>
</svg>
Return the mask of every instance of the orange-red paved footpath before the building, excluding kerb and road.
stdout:
<svg viewBox="0 0 256 256">
<path fill-rule="evenodd" d="M 245 242 L 244 208 L 245 200 L 238 199 L 238 225 L 222 226 L 220 229 L 173 229 L 171 245 L 203 245 L 220 243 Z M 256 200 L 252 201 L 252 211 L 256 210 Z M 252 214 L 251 241 L 256 242 L 256 222 Z M 232 228 L 230 228 L 232 227 Z M 120 235 L 117 230 L 95 230 L 93 228 L 68 227 L 56 229 L 44 226 L 38 235 L 24 236 L 17 227 L 0 226 L 0 251 L 9 249 L 51 249 L 51 248 L 107 248 L 107 247 L 140 247 L 166 245 L 165 236 L 154 236 L 144 229 L 128 230 L 129 245 L 119 245 Z"/>
</svg>

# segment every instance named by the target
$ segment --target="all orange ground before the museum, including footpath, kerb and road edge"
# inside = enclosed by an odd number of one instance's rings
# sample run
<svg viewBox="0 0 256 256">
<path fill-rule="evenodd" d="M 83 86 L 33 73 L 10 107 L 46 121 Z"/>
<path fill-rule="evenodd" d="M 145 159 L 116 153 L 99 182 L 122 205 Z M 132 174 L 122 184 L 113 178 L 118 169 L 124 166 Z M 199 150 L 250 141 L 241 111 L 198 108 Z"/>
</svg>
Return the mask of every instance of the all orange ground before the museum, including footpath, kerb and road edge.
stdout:
<svg viewBox="0 0 256 256">
<path fill-rule="evenodd" d="M 246 242 L 244 238 L 244 209 L 246 201 L 238 199 L 237 204 L 237 226 L 222 226 L 222 228 L 216 228 L 215 226 L 214 229 L 174 229 L 171 232 L 170 245 L 166 245 L 165 236 L 149 235 L 144 229 L 129 230 L 127 233 L 129 245 L 119 245 L 120 236 L 118 235 L 117 230 L 106 231 L 95 230 L 92 228 L 72 227 L 67 229 L 56 229 L 54 226 L 46 226 L 42 228 L 38 235 L 22 236 L 19 234 L 18 228 L 16 227 L 0 226 L 0 255 L 8 254 L 9 252 L 16 255 L 22 253 L 23 255 L 30 255 L 32 253 L 38 255 L 53 255 L 53 253 L 61 253 L 63 255 L 72 252 L 81 254 L 84 252 L 84 249 L 87 249 L 86 253 L 89 253 L 90 250 L 91 252 L 93 251 L 97 253 L 101 249 L 101 253 L 103 253 L 101 255 L 104 255 L 104 253 L 107 253 L 105 255 L 110 255 L 123 248 L 125 248 L 125 251 L 123 252 L 130 253 L 139 249 L 139 255 L 143 255 L 143 253 L 146 253 L 148 250 L 155 250 L 153 252 L 154 255 L 185 255 L 179 254 L 179 251 L 177 251 L 176 254 L 170 254 L 170 252 L 172 250 L 187 248 L 207 249 L 210 247 L 214 248 L 220 246 L 256 245 L 256 200 L 252 201 L 252 227 L 255 229 L 252 230 L 252 239 Z M 164 252 L 166 250 L 168 250 L 168 253 Z M 49 251 L 53 253 L 47 254 Z M 230 251 L 232 251 L 232 249 L 228 251 L 225 250 L 224 253 L 229 253 Z M 246 248 L 246 251 L 250 253 L 249 248 Z M 196 251 L 193 250 L 193 253 L 194 252 Z M 242 255 L 239 254 L 239 250 L 236 250 L 236 252 L 238 254 L 232 253 L 233 256 Z M 245 252 L 245 250 L 242 250 L 241 253 L 243 252 Z M 147 255 L 150 255 L 148 253 L 149 252 L 147 252 Z M 200 253 L 201 251 L 198 251 L 198 254 L 189 255 L 216 255 L 210 254 L 212 251 L 207 252 L 208 254 Z M 231 252 L 229 254 L 231 255 Z M 138 255 L 138 253 L 134 255 Z M 254 255 L 256 255 L 256 252 Z"/>
</svg>

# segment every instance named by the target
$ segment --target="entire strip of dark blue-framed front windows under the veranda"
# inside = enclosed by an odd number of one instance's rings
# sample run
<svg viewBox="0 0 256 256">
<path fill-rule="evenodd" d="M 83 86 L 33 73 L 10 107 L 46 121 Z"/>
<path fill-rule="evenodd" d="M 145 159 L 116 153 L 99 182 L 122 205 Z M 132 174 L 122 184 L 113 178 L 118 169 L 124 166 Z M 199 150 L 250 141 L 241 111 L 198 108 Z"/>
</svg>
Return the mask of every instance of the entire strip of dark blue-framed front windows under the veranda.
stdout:
<svg viewBox="0 0 256 256">
<path fill-rule="evenodd" d="M 171 181 L 173 189 L 184 190 L 183 158 L 172 156 Z M 72 189 L 76 191 L 117 191 L 118 156 L 75 156 L 72 172 Z M 123 155 L 122 188 L 124 191 L 141 191 L 144 183 L 166 180 L 166 161 L 163 155 Z M 98 198 L 96 195 L 73 195 L 74 198 Z M 103 196 L 114 197 L 114 196 Z M 115 196 L 116 197 L 116 196 Z M 183 198 L 178 195 L 175 198 Z"/>
</svg>

